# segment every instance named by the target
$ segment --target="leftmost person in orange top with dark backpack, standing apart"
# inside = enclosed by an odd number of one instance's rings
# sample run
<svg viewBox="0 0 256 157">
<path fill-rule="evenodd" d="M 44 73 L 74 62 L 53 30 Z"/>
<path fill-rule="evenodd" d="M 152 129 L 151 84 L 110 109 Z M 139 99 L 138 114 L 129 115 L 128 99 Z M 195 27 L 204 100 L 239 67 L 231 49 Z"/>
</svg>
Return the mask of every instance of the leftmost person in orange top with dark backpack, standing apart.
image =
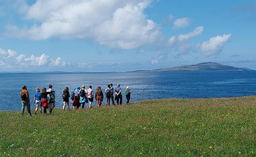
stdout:
<svg viewBox="0 0 256 157">
<path fill-rule="evenodd" d="M 29 91 L 27 90 L 26 85 L 22 86 L 22 91 L 20 91 L 20 98 L 21 98 L 21 104 L 22 104 L 21 116 L 24 116 L 25 106 L 27 106 L 29 116 L 32 116 L 30 111 Z"/>
</svg>

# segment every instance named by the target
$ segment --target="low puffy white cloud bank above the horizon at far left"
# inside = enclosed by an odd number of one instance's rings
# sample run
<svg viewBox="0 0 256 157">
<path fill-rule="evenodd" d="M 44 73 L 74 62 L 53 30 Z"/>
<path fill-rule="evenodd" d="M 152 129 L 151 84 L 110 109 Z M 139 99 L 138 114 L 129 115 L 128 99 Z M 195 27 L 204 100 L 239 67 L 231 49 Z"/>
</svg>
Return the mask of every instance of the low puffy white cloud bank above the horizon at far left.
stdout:
<svg viewBox="0 0 256 157">
<path fill-rule="evenodd" d="M 41 67 L 41 66 L 66 66 L 66 62 L 61 61 L 58 57 L 56 60 L 51 59 L 50 56 L 42 54 L 41 56 L 31 55 L 27 57 L 25 54 L 19 54 L 13 50 L 0 49 L 0 69 L 11 69 L 20 67 Z M 17 69 L 18 70 L 18 69 Z"/>
</svg>

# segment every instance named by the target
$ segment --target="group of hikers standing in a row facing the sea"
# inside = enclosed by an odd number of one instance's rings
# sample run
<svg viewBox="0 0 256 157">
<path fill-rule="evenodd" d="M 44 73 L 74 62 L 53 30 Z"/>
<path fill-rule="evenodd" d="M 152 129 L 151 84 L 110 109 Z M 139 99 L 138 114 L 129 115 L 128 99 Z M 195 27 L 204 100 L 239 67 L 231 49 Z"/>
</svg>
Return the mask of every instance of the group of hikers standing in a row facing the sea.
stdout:
<svg viewBox="0 0 256 157">
<path fill-rule="evenodd" d="M 115 98 L 114 98 L 115 93 Z M 121 93 L 121 87 L 120 84 L 117 84 L 117 87 L 114 89 L 113 84 L 107 85 L 107 88 L 104 91 L 104 94 L 101 90 L 101 87 L 96 88 L 95 92 L 95 100 L 98 103 L 98 107 L 102 105 L 102 101 L 104 99 L 104 95 L 106 97 L 106 105 L 110 105 L 110 101 L 112 101 L 112 105 L 115 105 L 114 99 L 117 101 L 117 105 L 122 105 L 123 96 Z M 126 87 L 125 90 L 126 95 L 126 103 L 129 103 L 131 98 L 131 89 L 129 87 Z M 30 99 L 29 99 L 29 92 L 27 90 L 26 85 L 22 86 L 22 91 L 20 91 L 20 98 L 22 103 L 22 110 L 21 115 L 24 115 L 25 107 L 27 107 L 28 113 L 31 115 L 30 110 Z M 89 108 L 92 108 L 92 102 L 94 100 L 94 91 L 92 89 L 92 86 L 90 85 L 88 89 L 85 89 L 85 85 L 82 85 L 81 88 L 78 86 L 72 91 L 70 94 L 69 88 L 66 87 L 63 90 L 62 94 L 63 98 L 63 111 L 65 111 L 66 105 L 68 105 L 68 110 L 70 110 L 70 101 L 72 100 L 72 106 L 73 109 L 79 109 L 79 107 L 82 105 L 82 108 L 84 108 L 85 103 L 89 103 Z M 36 87 L 33 104 L 36 104 L 35 113 L 37 113 L 38 109 L 40 113 L 42 114 L 42 107 L 43 107 L 43 115 L 47 114 L 47 109 L 49 109 L 50 114 L 52 113 L 53 108 L 55 107 L 55 90 L 52 89 L 52 85 L 49 85 L 49 89 L 46 90 L 45 87 L 42 87 L 41 91 L 39 87 Z"/>
</svg>

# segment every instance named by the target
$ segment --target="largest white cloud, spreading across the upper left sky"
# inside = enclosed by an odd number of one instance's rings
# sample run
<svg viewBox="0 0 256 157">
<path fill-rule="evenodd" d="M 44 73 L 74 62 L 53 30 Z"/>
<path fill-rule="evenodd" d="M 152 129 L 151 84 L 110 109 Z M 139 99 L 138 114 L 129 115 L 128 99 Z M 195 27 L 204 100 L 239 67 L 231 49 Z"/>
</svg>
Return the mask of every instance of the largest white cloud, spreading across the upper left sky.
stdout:
<svg viewBox="0 0 256 157">
<path fill-rule="evenodd" d="M 143 13 L 152 0 L 37 0 L 27 7 L 31 27 L 6 26 L 5 36 L 29 40 L 51 37 L 90 39 L 109 48 L 155 44 L 160 26 Z M 25 7 L 26 8 L 26 7 Z"/>
</svg>

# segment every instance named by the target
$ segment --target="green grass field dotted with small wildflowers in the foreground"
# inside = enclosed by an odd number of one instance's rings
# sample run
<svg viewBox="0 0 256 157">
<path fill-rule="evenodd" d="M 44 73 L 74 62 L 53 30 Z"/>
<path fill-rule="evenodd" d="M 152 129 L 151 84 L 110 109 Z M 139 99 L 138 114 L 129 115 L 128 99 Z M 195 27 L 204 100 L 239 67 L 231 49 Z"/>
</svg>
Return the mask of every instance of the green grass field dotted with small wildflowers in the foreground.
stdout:
<svg viewBox="0 0 256 157">
<path fill-rule="evenodd" d="M 25 110 L 26 113 L 26 110 Z M 256 156 L 256 97 L 0 112 L 0 156 Z"/>
</svg>

